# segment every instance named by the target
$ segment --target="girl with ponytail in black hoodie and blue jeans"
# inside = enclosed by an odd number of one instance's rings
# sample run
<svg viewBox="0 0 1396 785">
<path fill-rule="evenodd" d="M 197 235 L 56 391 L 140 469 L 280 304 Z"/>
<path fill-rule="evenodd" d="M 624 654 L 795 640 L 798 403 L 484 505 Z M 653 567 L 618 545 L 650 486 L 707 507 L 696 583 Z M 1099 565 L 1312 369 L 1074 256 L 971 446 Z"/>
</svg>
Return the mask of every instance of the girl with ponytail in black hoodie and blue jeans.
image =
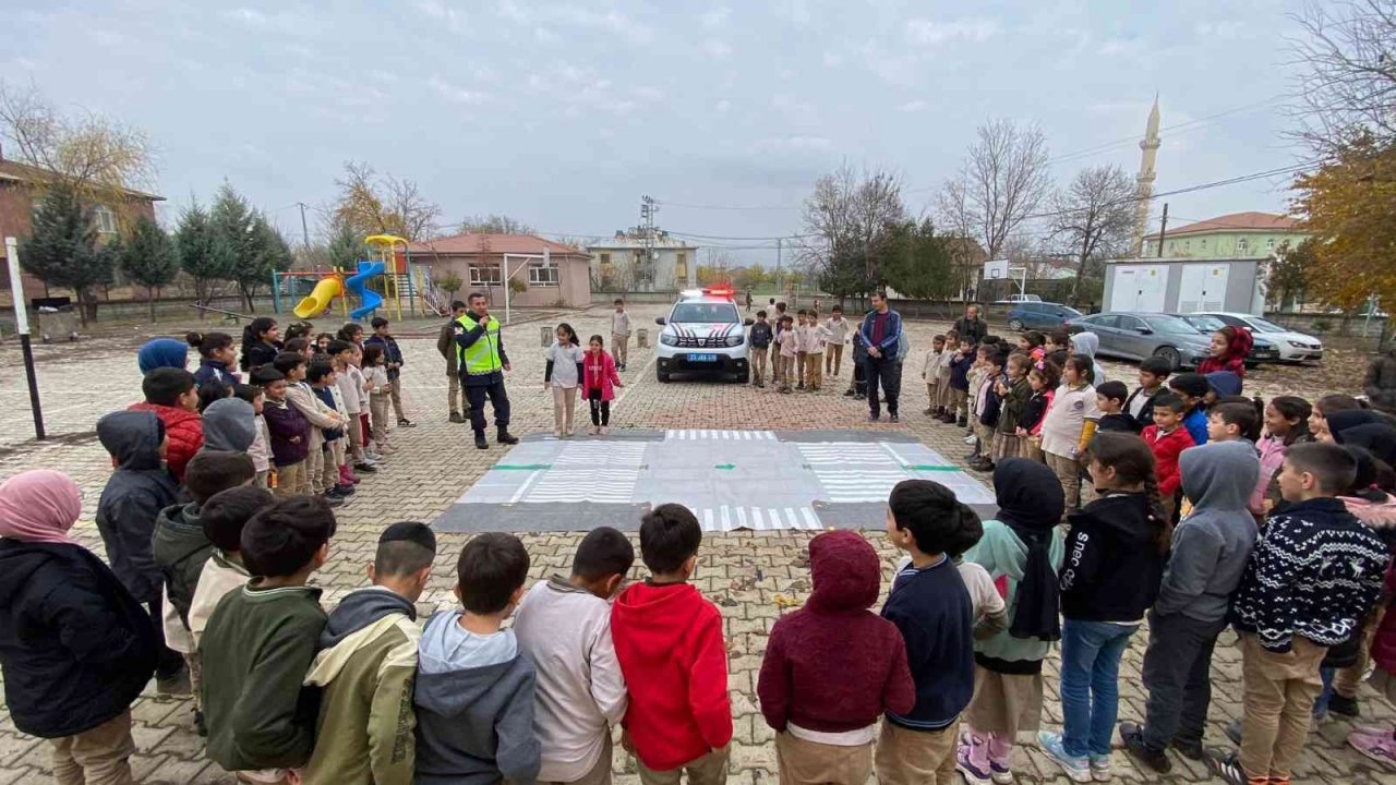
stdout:
<svg viewBox="0 0 1396 785">
<path fill-rule="evenodd" d="M 1089 457 L 1100 499 L 1068 515 L 1061 567 L 1062 732 L 1037 733 L 1043 751 L 1076 782 L 1110 778 L 1120 658 L 1159 596 L 1173 538 L 1143 440 L 1100 433 Z"/>
</svg>

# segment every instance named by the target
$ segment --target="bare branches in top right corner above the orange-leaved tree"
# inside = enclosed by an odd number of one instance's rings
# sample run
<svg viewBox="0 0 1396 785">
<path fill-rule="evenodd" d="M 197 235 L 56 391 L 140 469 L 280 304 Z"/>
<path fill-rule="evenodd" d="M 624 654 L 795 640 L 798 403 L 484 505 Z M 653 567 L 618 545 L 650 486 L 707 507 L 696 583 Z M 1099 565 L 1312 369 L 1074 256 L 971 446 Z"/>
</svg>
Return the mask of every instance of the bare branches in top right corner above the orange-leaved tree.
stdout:
<svg viewBox="0 0 1396 785">
<path fill-rule="evenodd" d="M 1291 49 L 1307 66 L 1293 105 L 1298 137 L 1322 155 L 1358 131 L 1396 138 L 1396 0 L 1314 3 L 1295 21 L 1304 38 Z"/>
</svg>

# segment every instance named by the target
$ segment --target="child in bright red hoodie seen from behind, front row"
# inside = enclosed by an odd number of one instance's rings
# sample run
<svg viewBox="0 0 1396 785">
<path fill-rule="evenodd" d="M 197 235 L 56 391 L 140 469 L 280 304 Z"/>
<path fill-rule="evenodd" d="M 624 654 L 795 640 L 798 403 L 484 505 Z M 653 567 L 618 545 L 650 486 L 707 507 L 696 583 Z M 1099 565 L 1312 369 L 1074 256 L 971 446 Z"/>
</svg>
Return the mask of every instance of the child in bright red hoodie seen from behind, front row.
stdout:
<svg viewBox="0 0 1396 785">
<path fill-rule="evenodd" d="M 688 584 L 702 528 L 683 504 L 660 504 L 639 525 L 649 580 L 616 598 L 611 638 L 630 687 L 623 744 L 645 785 L 727 781 L 732 701 L 722 612 Z"/>
</svg>

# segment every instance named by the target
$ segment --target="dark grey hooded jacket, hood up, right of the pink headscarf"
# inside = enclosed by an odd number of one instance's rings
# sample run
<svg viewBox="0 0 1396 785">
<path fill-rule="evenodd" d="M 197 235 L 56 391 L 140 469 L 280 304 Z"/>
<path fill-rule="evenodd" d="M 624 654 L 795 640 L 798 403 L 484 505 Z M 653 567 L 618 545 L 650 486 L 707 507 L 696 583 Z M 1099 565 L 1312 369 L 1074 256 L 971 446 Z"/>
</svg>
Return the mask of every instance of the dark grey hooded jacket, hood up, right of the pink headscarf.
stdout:
<svg viewBox="0 0 1396 785">
<path fill-rule="evenodd" d="M 165 425 L 152 412 L 112 412 L 96 422 L 96 437 L 117 462 L 96 504 L 106 559 L 137 602 L 155 602 L 165 577 L 151 536 L 179 490 L 161 460 Z"/>
</svg>

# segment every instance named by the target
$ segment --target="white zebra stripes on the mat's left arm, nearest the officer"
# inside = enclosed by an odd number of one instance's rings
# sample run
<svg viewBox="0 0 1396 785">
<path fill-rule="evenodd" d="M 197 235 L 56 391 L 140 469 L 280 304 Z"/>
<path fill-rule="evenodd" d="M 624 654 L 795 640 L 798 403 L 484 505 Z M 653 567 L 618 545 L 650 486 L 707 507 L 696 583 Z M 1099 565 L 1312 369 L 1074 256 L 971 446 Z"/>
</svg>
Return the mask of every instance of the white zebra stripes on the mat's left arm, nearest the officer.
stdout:
<svg viewBox="0 0 1396 785">
<path fill-rule="evenodd" d="M 639 482 L 645 447 L 642 441 L 567 444 L 550 469 L 529 478 L 536 482 L 526 482 L 515 500 L 628 504 Z"/>
</svg>

